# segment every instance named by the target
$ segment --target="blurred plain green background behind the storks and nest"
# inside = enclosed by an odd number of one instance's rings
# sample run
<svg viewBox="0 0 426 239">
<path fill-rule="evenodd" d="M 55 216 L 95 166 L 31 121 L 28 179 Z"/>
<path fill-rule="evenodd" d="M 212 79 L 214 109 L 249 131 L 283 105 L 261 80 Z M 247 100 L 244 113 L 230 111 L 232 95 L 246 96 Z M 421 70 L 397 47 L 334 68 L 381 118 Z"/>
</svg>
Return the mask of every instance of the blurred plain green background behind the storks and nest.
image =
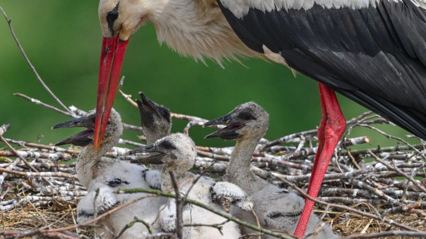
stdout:
<svg viewBox="0 0 426 239">
<path fill-rule="evenodd" d="M 12 19 L 12 26 L 35 68 L 52 91 L 65 103 L 83 110 L 95 107 L 101 31 L 98 2 L 52 0 L 6 0 L 0 6 Z M 207 66 L 180 57 L 165 44 L 160 46 L 155 29 L 147 24 L 130 40 L 122 74 L 123 90 L 135 98 L 138 91 L 173 112 L 206 119 L 222 116 L 236 105 L 255 101 L 270 114 L 268 139 L 316 127 L 320 120 L 317 83 L 299 75 L 296 79 L 282 65 L 262 60 L 242 60 L 245 66 L 226 62 L 225 69 L 207 60 Z M 5 137 L 58 142 L 78 131 L 52 131 L 52 125 L 69 118 L 32 104 L 12 94 L 20 92 L 43 102 L 60 106 L 36 80 L 0 18 L 0 124 L 12 128 Z M 366 111 L 360 105 L 339 96 L 346 119 Z M 114 107 L 124 122 L 139 125 L 138 111 L 117 95 Z M 181 131 L 186 122 L 174 120 L 173 131 Z M 380 126 L 388 133 L 404 136 L 396 126 Z M 190 134 L 198 145 L 231 145 L 220 139 L 203 139 L 213 131 L 194 127 Z M 124 138 L 137 140 L 136 132 Z M 352 136 L 369 135 L 373 145 L 394 144 L 371 130 L 358 129 Z M 2 146 L 0 144 L 0 146 Z"/>
</svg>

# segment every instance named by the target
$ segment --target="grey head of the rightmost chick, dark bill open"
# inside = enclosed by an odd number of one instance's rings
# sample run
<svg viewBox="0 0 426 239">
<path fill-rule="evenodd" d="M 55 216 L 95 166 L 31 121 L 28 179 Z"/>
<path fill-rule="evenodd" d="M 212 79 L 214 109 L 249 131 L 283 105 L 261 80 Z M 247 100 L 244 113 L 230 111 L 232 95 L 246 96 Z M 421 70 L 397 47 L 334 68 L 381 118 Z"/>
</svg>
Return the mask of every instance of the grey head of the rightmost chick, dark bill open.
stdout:
<svg viewBox="0 0 426 239">
<path fill-rule="evenodd" d="M 222 139 L 247 139 L 263 137 L 268 129 L 268 113 L 255 102 L 238 105 L 229 114 L 213 119 L 204 124 L 227 125 L 206 138 L 221 137 Z"/>
</svg>

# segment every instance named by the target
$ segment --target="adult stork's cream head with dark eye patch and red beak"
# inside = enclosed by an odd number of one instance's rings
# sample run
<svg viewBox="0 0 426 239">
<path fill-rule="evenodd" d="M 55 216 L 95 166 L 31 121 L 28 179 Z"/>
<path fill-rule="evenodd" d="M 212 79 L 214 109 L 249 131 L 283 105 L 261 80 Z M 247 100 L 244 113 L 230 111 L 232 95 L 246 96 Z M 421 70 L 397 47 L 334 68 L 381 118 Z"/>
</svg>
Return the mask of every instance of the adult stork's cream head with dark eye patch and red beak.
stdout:
<svg viewBox="0 0 426 239">
<path fill-rule="evenodd" d="M 145 6 L 144 2 L 139 0 L 101 0 L 99 2 L 98 14 L 104 39 L 96 99 L 95 149 L 99 148 L 104 137 L 127 43 L 149 12 L 150 8 Z"/>
</svg>

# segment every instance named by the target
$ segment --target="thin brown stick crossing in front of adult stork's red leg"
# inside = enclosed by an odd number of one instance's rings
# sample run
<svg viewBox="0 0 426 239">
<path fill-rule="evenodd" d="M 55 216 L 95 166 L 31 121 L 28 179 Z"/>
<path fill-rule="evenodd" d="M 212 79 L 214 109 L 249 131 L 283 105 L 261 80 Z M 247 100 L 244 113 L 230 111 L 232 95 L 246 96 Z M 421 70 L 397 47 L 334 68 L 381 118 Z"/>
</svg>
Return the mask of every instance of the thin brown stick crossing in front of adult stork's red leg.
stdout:
<svg viewBox="0 0 426 239">
<path fill-rule="evenodd" d="M 374 215 L 374 214 L 371 214 L 371 213 L 367 213 L 367 212 L 363 212 L 363 211 L 360 211 L 360 210 L 357 210 L 357 209 L 354 209 L 354 208 L 350 208 L 350 207 L 347 207 L 347 206 L 338 205 L 338 204 L 334 204 L 334 203 L 328 203 L 328 202 L 324 202 L 324 201 L 318 200 L 318 199 L 313 198 L 313 197 L 309 196 L 308 194 L 306 194 L 301 188 L 297 187 L 297 185 L 295 185 L 294 183 L 289 182 L 288 180 L 285 180 L 285 179 L 282 179 L 282 180 L 283 180 L 283 182 L 285 182 L 288 185 L 290 185 L 291 187 L 293 187 L 300 194 L 302 194 L 302 196 L 304 196 L 304 197 L 306 197 L 306 198 L 308 198 L 308 199 L 310 199 L 310 200 L 312 200 L 314 202 L 320 203 L 322 205 L 329 206 L 329 207 L 332 207 L 332 208 L 339 208 L 339 209 L 342 209 L 342 210 L 345 210 L 345 211 L 350 211 L 350 212 L 353 212 L 353 213 L 360 214 L 362 216 L 367 216 L 369 218 L 374 218 L 374 219 L 377 219 L 377 220 L 379 220 L 381 222 L 386 222 L 386 223 L 388 223 L 390 225 L 393 225 L 395 227 L 402 228 L 402 229 L 405 229 L 405 230 L 410 230 L 410 231 L 414 231 L 414 232 L 421 232 L 420 230 L 417 230 L 417 229 L 412 228 L 412 227 L 407 226 L 407 225 L 403 225 L 403 224 L 397 223 L 397 222 L 395 222 L 394 220 L 391 220 L 391 219 L 386 219 L 386 218 L 384 218 L 382 216 L 377 216 L 377 215 Z"/>
</svg>

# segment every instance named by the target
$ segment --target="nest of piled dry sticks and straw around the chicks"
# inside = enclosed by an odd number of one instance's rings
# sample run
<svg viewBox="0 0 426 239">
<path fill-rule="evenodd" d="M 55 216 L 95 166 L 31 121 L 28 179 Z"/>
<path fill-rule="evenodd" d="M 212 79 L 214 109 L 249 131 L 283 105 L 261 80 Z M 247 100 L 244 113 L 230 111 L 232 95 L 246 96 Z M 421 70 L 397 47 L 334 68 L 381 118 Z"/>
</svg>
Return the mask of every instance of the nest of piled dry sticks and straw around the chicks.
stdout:
<svg viewBox="0 0 426 239">
<path fill-rule="evenodd" d="M 121 94 L 134 103 L 129 95 L 122 91 Z M 45 107 L 49 106 L 22 94 L 18 96 Z M 70 107 L 69 110 L 71 113 L 57 111 L 72 117 L 85 113 L 75 107 Z M 205 119 L 182 114 L 172 114 L 172 117 L 188 121 L 183 129 L 187 134 L 190 128 L 206 122 Z M 371 112 L 348 120 L 347 124 L 348 132 L 340 141 L 328 167 L 318 196 L 321 203 L 316 204 L 315 212 L 340 236 L 397 230 L 425 231 L 425 145 L 420 140 L 418 144 L 412 145 L 404 139 L 380 131 L 374 125 L 389 122 Z M 141 131 L 138 126 L 125 125 L 127 130 Z M 351 131 L 356 127 L 370 128 L 371 132 L 376 131 L 385 137 L 392 137 L 398 143 L 387 148 L 351 150 L 354 145 L 368 145 L 370 142 L 368 136 L 351 138 Z M 7 125 L 3 125 L 0 133 L 6 136 L 7 128 Z M 144 140 L 144 136 L 140 138 Z M 64 149 L 6 139 L 3 136 L 2 140 L 8 143 L 8 148 L 0 150 L 0 170 L 3 171 L 0 176 L 1 225 L 5 230 L 3 236 L 19 234 L 21 237 L 46 237 L 35 232 L 40 229 L 70 228 L 60 230 L 59 234 L 50 237 L 90 238 L 93 225 L 80 227 L 75 222 L 78 200 L 86 195 L 86 190 L 78 182 L 75 172 L 74 159 L 81 148 Z M 143 145 L 142 142 L 125 139 L 120 142 L 132 146 Z M 253 154 L 251 170 L 281 188 L 305 196 L 312 161 L 317 151 L 313 146 L 316 142 L 316 129 L 272 141 L 262 139 Z M 220 177 L 225 173 L 232 150 L 231 147 L 197 146 L 198 157 L 193 171 L 201 172 L 208 168 L 207 174 Z M 122 160 L 137 159 L 138 156 L 128 155 L 129 151 L 128 148 L 115 147 L 107 156 Z M 401 176 L 403 178 L 400 178 Z M 348 211 L 339 206 L 353 210 Z"/>
</svg>

